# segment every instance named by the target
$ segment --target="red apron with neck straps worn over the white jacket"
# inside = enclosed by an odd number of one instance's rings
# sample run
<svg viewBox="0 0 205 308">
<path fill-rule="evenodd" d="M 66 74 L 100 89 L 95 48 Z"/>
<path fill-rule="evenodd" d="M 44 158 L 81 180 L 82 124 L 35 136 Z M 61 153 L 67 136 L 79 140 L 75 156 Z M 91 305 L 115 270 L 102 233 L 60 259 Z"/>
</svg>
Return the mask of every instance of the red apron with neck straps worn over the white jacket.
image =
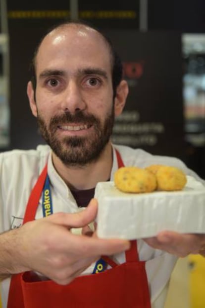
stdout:
<svg viewBox="0 0 205 308">
<path fill-rule="evenodd" d="M 124 166 L 116 151 L 118 167 Z M 47 175 L 47 166 L 34 186 L 23 224 L 35 219 Z M 125 252 L 126 262 L 102 273 L 79 276 L 61 286 L 51 280 L 40 281 L 34 272 L 13 275 L 7 308 L 151 308 L 145 261 L 139 261 L 137 241 Z"/>
</svg>

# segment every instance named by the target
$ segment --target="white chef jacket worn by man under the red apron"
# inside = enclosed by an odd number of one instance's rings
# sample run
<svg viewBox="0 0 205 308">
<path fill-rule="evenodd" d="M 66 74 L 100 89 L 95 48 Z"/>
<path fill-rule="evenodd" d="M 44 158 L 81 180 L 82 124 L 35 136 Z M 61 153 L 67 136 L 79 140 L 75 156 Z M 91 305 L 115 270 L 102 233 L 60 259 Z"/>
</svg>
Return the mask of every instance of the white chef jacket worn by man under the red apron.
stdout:
<svg viewBox="0 0 205 308">
<path fill-rule="evenodd" d="M 114 146 L 121 154 L 124 165 L 146 167 L 151 164 L 166 164 L 181 168 L 186 174 L 204 182 L 179 159 L 149 154 L 140 149 Z M 18 228 L 22 225 L 24 212 L 31 190 L 48 161 L 48 175 L 51 183 L 53 213 L 75 213 L 79 210 L 71 191 L 58 175 L 51 160 L 51 149 L 40 145 L 36 150 L 13 150 L 0 154 L 0 232 Z M 116 154 L 113 151 L 113 165 L 110 180 L 117 170 Z M 205 182 L 204 182 L 205 183 Z M 42 199 L 39 201 L 36 219 L 43 217 Z M 140 260 L 146 260 L 146 272 L 149 282 L 152 308 L 162 308 L 167 286 L 176 256 L 154 249 L 142 239 L 138 240 Z M 125 261 L 125 254 L 114 256 L 119 263 Z M 83 274 L 92 273 L 92 264 Z M 1 282 L 1 300 L 6 308 L 10 279 Z"/>
</svg>

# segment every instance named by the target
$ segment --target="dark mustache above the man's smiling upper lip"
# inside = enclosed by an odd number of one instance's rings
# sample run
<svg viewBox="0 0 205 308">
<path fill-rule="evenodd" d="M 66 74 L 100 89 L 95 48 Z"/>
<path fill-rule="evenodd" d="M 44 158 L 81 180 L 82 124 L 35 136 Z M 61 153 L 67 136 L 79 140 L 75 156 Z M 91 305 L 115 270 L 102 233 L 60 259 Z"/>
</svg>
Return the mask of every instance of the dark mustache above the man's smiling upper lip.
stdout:
<svg viewBox="0 0 205 308">
<path fill-rule="evenodd" d="M 100 120 L 92 114 L 84 114 L 84 112 L 79 111 L 78 113 L 71 114 L 69 111 L 53 116 L 50 120 L 50 128 L 56 127 L 57 125 L 63 125 L 67 123 L 81 123 L 88 125 L 99 124 Z"/>
</svg>

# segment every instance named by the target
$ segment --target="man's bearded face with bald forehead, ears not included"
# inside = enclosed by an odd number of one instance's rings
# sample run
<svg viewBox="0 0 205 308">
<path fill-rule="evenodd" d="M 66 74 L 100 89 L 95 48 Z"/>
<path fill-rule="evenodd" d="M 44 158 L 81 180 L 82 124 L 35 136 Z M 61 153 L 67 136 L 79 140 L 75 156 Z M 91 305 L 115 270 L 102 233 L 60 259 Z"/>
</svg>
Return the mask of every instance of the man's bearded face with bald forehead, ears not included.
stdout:
<svg viewBox="0 0 205 308">
<path fill-rule="evenodd" d="M 43 138 L 66 165 L 99 157 L 114 121 L 108 47 L 92 29 L 52 31 L 36 59 L 36 115 Z"/>
</svg>

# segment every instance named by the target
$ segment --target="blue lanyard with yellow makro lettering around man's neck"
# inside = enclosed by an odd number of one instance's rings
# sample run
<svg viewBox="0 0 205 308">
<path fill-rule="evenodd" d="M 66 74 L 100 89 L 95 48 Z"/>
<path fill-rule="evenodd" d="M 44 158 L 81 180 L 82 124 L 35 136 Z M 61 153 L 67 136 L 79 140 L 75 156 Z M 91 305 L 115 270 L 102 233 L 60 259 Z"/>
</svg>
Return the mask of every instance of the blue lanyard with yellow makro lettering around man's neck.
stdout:
<svg viewBox="0 0 205 308">
<path fill-rule="evenodd" d="M 47 174 L 46 181 L 43 188 L 43 196 L 42 196 L 42 210 L 43 216 L 47 217 L 53 213 L 52 210 L 52 197 L 51 197 L 51 185 L 49 181 L 49 176 Z M 107 263 L 100 258 L 94 267 L 93 274 L 101 273 L 107 268 Z"/>
</svg>

